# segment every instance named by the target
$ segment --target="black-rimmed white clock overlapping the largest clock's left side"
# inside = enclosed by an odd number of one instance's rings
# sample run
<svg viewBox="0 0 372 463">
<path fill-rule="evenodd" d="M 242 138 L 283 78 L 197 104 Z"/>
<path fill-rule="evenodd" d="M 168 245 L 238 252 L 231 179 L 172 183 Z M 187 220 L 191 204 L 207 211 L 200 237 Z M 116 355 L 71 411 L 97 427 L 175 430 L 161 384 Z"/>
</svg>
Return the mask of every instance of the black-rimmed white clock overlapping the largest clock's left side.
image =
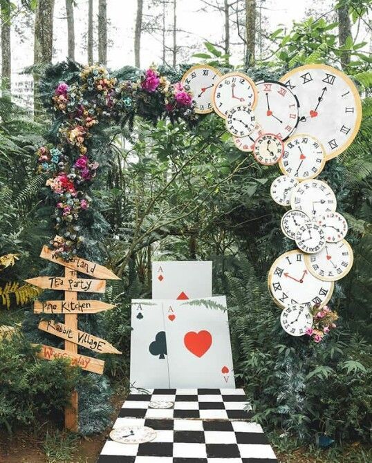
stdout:
<svg viewBox="0 0 372 463">
<path fill-rule="evenodd" d="M 254 108 L 257 122 L 266 133 L 275 133 L 286 140 L 295 130 L 299 120 L 297 97 L 281 82 L 259 82 L 257 106 Z"/>
</svg>

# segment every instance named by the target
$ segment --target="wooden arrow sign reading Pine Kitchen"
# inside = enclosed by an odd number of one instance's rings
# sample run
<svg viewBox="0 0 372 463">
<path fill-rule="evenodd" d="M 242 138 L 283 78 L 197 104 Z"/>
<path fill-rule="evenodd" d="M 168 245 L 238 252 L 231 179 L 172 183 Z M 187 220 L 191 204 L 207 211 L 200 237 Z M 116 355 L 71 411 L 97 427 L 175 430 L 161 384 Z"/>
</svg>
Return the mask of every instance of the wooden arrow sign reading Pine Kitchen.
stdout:
<svg viewBox="0 0 372 463">
<path fill-rule="evenodd" d="M 93 299 L 82 301 L 35 301 L 35 314 L 95 314 L 115 308 L 115 305 L 107 304 Z"/>
</svg>

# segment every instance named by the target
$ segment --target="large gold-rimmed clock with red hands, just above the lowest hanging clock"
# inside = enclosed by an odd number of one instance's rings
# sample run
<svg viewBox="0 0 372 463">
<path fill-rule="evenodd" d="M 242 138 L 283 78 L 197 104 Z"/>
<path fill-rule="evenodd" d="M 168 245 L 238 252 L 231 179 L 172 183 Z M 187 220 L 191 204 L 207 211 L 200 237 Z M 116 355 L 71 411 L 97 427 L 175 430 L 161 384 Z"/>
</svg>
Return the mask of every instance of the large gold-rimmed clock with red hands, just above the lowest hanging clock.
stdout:
<svg viewBox="0 0 372 463">
<path fill-rule="evenodd" d="M 306 268 L 305 254 L 299 250 L 285 252 L 269 270 L 268 285 L 272 298 L 282 308 L 290 305 L 325 305 L 331 299 L 333 283 L 315 278 Z"/>
</svg>

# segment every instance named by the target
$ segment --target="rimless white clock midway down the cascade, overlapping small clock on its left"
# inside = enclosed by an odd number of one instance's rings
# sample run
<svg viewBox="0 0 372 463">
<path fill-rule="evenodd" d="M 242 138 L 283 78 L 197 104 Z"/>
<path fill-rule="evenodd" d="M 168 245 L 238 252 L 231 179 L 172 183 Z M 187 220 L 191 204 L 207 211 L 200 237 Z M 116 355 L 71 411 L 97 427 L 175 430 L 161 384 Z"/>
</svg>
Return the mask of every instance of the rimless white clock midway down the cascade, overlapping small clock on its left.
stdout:
<svg viewBox="0 0 372 463">
<path fill-rule="evenodd" d="M 304 180 L 292 191 L 292 209 L 304 211 L 310 218 L 333 212 L 337 207 L 335 193 L 322 180 Z"/>
</svg>

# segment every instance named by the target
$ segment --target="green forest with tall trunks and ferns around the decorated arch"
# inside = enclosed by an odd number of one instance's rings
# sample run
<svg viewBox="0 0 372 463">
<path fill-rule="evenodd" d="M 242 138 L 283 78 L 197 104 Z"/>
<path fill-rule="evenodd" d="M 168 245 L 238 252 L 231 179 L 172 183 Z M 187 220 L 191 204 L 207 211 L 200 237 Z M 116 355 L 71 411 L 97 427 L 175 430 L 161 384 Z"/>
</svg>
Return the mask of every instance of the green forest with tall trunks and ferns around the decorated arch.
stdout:
<svg viewBox="0 0 372 463">
<path fill-rule="evenodd" d="M 80 388 L 82 433 L 104 436 L 108 399 L 115 391 L 122 401 L 128 386 L 130 300 L 149 296 L 151 261 L 160 259 L 213 260 L 214 294 L 228 298 L 238 381 L 280 461 L 371 461 L 370 1 L 279 7 L 270 0 L 1 0 L 0 6 L 0 256 L 16 254 L 0 260 L 0 325 L 19 333 L 0 342 L 0 461 L 21 461 L 11 460 L 10 443 L 25 435 L 28 451 L 37 442 L 38 456 L 24 461 L 95 461 L 77 456 L 84 440 L 61 433 L 59 417 L 71 390 Z M 208 30 L 205 23 L 218 26 Z M 30 313 L 37 294 L 23 280 L 45 271 L 39 252 L 54 236 L 35 152 L 46 142 L 47 108 L 62 76 L 63 66 L 53 64 L 66 57 L 133 79 L 136 68 L 154 61 L 173 78 L 197 62 L 245 70 L 256 81 L 324 62 L 354 80 L 363 98 L 360 133 L 319 176 L 337 195 L 355 254 L 353 270 L 336 284 L 330 304 L 340 321 L 326 341 L 315 346 L 288 337 L 268 294 L 268 268 L 292 248 L 279 227 L 283 210 L 269 193 L 277 167 L 259 166 L 238 151 L 216 115 L 202 117 L 192 137 L 185 137 L 183 122 L 154 126 L 138 118 L 131 130 L 109 127 L 98 138 L 107 160 L 94 187 L 97 214 L 109 224 L 97 253 L 122 277 L 106 292 L 118 308 L 96 324 L 124 355 L 106 359 L 99 391 L 90 375 L 66 377 L 65 364 L 35 359 L 28 339 L 38 339 Z M 64 76 L 77 69 L 69 66 Z M 169 173 L 174 180 L 165 182 Z"/>
</svg>

